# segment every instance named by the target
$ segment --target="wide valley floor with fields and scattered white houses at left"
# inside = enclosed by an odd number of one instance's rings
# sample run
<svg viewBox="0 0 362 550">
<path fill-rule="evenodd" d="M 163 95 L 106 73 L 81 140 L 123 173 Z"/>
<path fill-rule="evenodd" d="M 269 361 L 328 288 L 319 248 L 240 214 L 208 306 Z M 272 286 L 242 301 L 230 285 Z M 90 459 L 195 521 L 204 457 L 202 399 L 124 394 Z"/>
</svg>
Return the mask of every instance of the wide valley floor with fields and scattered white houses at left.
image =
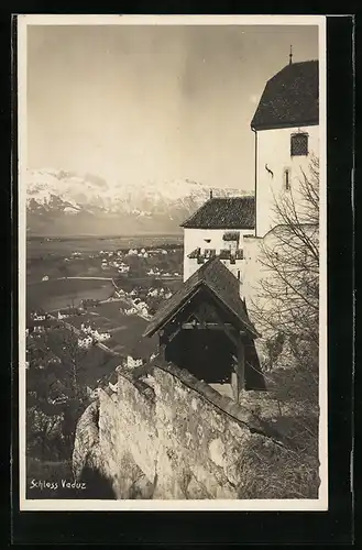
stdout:
<svg viewBox="0 0 362 550">
<path fill-rule="evenodd" d="M 76 421 L 92 392 L 108 386 L 118 365 L 156 352 L 157 339 L 142 334 L 182 285 L 182 263 L 180 241 L 167 235 L 28 240 L 29 487 L 58 464 L 69 474 Z M 84 328 L 92 333 L 87 346 Z M 29 490 L 29 498 L 63 494 L 62 487 Z"/>
</svg>

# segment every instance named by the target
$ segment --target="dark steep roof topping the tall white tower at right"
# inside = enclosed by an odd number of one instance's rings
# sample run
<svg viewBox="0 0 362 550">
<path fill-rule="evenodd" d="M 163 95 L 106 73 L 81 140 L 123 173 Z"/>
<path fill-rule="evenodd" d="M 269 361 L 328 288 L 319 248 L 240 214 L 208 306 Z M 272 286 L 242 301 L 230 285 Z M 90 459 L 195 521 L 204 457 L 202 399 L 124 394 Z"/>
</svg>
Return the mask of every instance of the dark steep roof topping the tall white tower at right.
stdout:
<svg viewBox="0 0 362 550">
<path fill-rule="evenodd" d="M 318 62 L 292 63 L 264 88 L 251 122 L 255 130 L 318 124 Z"/>
</svg>

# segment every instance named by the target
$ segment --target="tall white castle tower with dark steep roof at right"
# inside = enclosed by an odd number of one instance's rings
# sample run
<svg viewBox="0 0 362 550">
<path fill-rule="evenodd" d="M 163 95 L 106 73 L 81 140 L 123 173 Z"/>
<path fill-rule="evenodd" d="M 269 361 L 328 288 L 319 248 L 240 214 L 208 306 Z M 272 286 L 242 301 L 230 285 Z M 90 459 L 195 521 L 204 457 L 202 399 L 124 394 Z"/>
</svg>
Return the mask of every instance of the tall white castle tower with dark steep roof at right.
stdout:
<svg viewBox="0 0 362 550">
<path fill-rule="evenodd" d="M 259 238 L 276 224 L 275 198 L 290 194 L 296 198 L 311 155 L 319 155 L 318 70 L 318 61 L 292 63 L 290 57 L 290 63 L 266 82 L 251 121 Z"/>
</svg>

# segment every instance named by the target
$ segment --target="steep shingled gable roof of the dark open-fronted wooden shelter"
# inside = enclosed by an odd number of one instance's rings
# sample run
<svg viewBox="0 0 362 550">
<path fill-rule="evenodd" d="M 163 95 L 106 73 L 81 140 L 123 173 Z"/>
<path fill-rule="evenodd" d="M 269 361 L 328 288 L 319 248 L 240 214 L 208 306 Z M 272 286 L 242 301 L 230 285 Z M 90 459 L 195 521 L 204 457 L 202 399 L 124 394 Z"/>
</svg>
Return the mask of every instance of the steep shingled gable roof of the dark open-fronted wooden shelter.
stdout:
<svg viewBox="0 0 362 550">
<path fill-rule="evenodd" d="M 177 293 L 164 301 L 149 323 L 143 336 L 151 337 L 160 330 L 202 285 L 209 288 L 223 302 L 252 337 L 259 336 L 249 319 L 244 302 L 240 299 L 239 280 L 218 257 L 206 262 L 185 280 Z"/>
</svg>

